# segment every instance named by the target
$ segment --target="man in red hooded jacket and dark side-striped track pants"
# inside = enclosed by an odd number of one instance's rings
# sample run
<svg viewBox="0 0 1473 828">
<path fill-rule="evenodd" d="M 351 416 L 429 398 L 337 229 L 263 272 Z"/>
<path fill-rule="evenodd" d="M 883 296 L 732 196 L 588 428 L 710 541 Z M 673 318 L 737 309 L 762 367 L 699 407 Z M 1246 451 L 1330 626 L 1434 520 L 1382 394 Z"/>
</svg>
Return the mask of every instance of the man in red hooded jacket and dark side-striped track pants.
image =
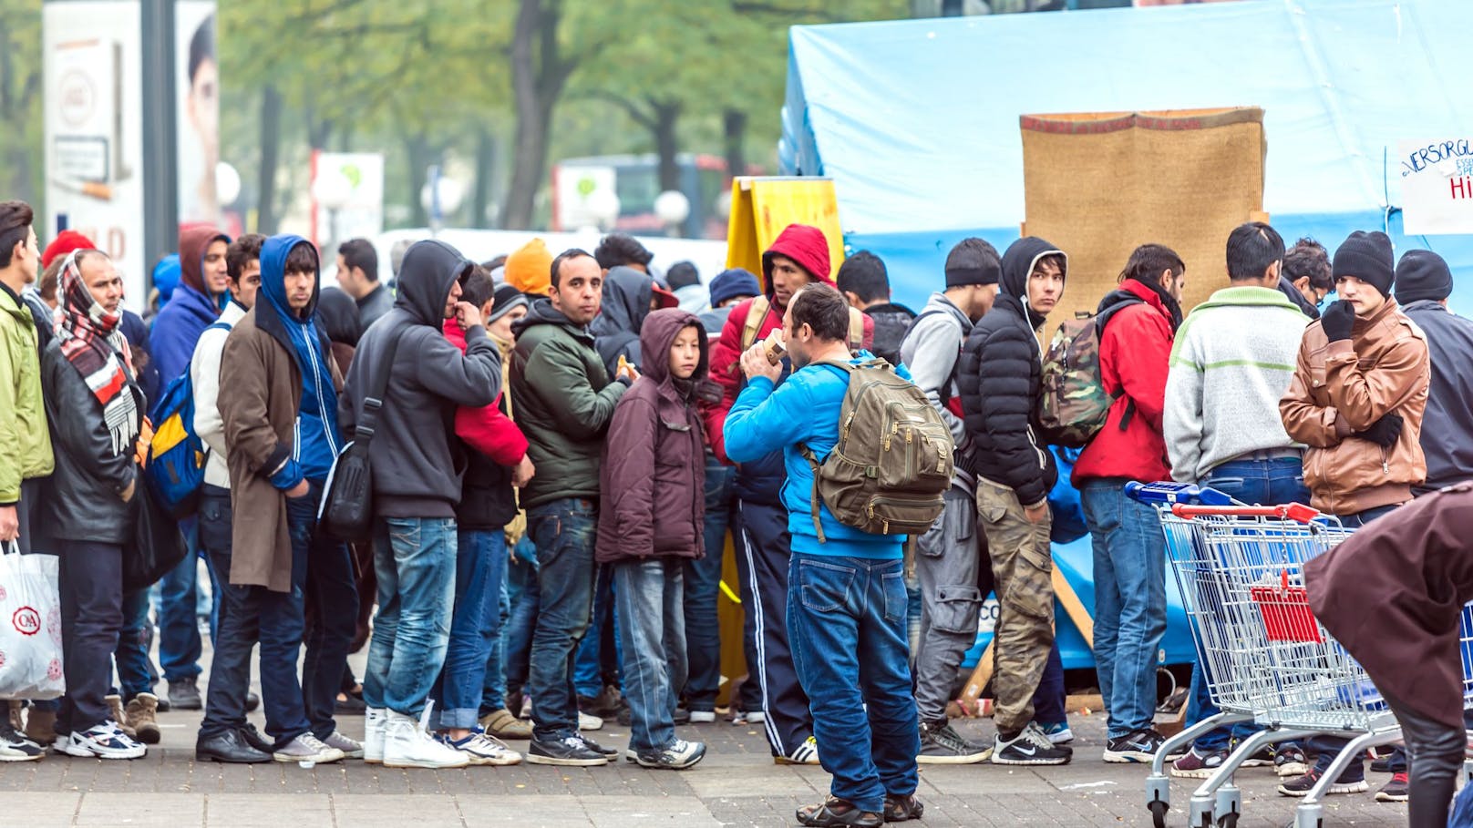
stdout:
<svg viewBox="0 0 1473 828">
<path fill-rule="evenodd" d="M 829 245 L 823 231 L 806 224 L 790 224 L 762 255 L 762 276 L 764 295 L 732 308 L 720 339 L 711 346 L 711 379 L 722 386 L 722 401 L 706 411 L 706 435 L 723 463 L 729 463 L 723 439 L 726 413 L 747 382 L 738 368 L 742 351 L 773 329 L 782 327 L 782 314 L 803 286 L 815 281 L 834 286 Z M 748 317 L 756 314 L 762 314 L 760 321 L 748 324 Z M 859 314 L 859 320 L 853 318 L 854 314 Z M 868 348 L 875 336 L 875 323 L 859 311 L 851 311 L 851 331 L 859 327 L 859 321 L 863 323 L 860 345 Z M 782 379 L 787 379 L 790 370 L 784 358 Z M 779 765 L 818 765 L 809 698 L 798 687 L 788 648 L 785 611 L 791 539 L 788 510 L 779 497 L 785 479 L 782 452 L 736 467 L 736 522 L 732 535 L 736 542 L 741 601 L 747 610 L 742 644 L 751 673 L 747 681 L 757 682 L 762 691 L 762 710 L 747 710 L 747 720 L 766 723 L 767 743 Z"/>
</svg>

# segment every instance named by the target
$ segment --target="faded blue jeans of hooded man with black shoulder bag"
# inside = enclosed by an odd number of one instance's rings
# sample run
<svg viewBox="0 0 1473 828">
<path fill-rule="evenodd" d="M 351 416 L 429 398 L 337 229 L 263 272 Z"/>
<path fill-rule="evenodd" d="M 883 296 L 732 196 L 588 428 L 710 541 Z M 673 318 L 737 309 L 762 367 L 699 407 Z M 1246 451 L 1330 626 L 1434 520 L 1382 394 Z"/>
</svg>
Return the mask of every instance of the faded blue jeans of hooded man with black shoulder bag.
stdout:
<svg viewBox="0 0 1473 828">
<path fill-rule="evenodd" d="M 364 703 L 418 718 L 445 666 L 455 607 L 455 519 L 387 517 L 374 538 L 379 614 Z"/>
</svg>

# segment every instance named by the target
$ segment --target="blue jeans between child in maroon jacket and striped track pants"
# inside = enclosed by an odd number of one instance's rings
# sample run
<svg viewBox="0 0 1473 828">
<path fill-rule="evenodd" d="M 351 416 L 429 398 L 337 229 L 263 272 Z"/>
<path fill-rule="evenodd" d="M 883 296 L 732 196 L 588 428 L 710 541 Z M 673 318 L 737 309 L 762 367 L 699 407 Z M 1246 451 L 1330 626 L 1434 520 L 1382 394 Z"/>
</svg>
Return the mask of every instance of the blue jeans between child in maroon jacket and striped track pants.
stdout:
<svg viewBox="0 0 1473 828">
<path fill-rule="evenodd" d="M 706 457 L 706 557 L 685 560 L 685 654 L 691 675 L 685 703 L 691 710 L 716 710 L 722 688 L 722 631 L 716 603 L 722 591 L 726 530 L 736 508 L 732 482 L 736 470 Z"/>
</svg>

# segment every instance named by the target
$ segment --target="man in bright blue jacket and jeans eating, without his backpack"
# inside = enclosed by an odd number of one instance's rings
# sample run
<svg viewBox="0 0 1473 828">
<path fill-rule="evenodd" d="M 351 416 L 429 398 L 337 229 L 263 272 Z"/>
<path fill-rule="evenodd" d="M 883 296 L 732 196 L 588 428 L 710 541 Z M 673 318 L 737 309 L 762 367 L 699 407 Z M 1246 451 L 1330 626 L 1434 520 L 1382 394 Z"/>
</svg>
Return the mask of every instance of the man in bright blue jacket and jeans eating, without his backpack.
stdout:
<svg viewBox="0 0 1473 828">
<path fill-rule="evenodd" d="M 848 349 L 848 302 L 809 284 L 790 302 L 782 333 L 792 374 L 757 342 L 741 355 L 747 387 L 726 414 L 726 457 L 751 463 L 782 451 L 792 557 L 788 642 L 810 700 L 813 735 L 834 781 L 826 801 L 798 809 L 803 825 L 872 825 L 921 816 L 921 750 L 910 692 L 903 536 L 840 523 L 823 504 L 813 526 L 813 467 L 838 443 L 848 374 L 815 362 L 857 362 Z M 862 355 L 868 358 L 868 354 Z M 903 374 L 907 376 L 909 374 Z"/>
</svg>

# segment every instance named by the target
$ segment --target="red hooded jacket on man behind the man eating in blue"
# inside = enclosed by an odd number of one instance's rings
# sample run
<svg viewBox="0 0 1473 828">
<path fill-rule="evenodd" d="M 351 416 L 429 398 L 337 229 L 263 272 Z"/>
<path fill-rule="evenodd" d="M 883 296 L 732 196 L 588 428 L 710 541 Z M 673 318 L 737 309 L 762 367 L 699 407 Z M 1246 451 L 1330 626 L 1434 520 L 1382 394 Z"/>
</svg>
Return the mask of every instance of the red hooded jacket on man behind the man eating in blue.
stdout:
<svg viewBox="0 0 1473 828">
<path fill-rule="evenodd" d="M 818 227 L 790 224 L 778 234 L 778 239 L 767 248 L 767 252 L 762 255 L 762 287 L 769 301 L 772 299 L 773 255 L 787 256 L 812 276 L 816 276 L 819 281 L 838 287 L 829 274 L 828 239 Z M 731 463 L 726 460 L 726 413 L 736 402 L 736 395 L 741 392 L 742 380 L 745 379 L 741 373 L 741 331 L 747 326 L 747 312 L 751 311 L 751 299 L 747 299 L 732 308 L 731 315 L 726 317 L 726 327 L 722 329 L 720 339 L 711 345 L 711 379 L 722 386 L 722 401 L 716 405 L 703 407 L 701 414 L 706 420 L 706 439 L 722 463 Z M 787 308 L 769 304 L 767 317 L 757 326 L 757 339 L 753 342 L 759 342 L 772 333 L 773 329 L 782 327 L 784 312 L 787 312 Z M 865 348 L 869 348 L 873 339 L 875 323 L 869 317 L 865 317 Z"/>
</svg>

